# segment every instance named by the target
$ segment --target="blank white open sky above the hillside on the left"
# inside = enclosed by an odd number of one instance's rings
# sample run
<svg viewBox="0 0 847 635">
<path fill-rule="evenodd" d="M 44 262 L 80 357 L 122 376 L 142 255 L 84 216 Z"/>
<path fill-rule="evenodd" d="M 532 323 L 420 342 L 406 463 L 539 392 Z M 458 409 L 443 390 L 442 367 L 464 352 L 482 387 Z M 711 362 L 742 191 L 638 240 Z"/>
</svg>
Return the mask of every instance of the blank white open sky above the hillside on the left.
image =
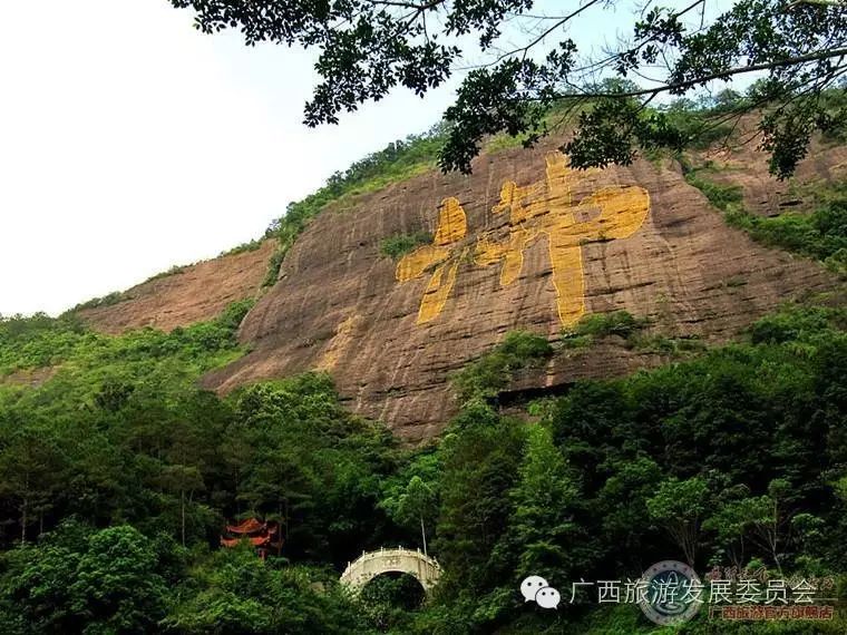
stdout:
<svg viewBox="0 0 847 635">
<path fill-rule="evenodd" d="M 0 315 L 58 314 L 262 235 L 333 172 L 438 121 L 460 78 L 310 129 L 311 51 L 202 35 L 166 0 L 0 6 Z M 580 37 L 601 45 L 627 19 L 598 12 Z"/>
</svg>

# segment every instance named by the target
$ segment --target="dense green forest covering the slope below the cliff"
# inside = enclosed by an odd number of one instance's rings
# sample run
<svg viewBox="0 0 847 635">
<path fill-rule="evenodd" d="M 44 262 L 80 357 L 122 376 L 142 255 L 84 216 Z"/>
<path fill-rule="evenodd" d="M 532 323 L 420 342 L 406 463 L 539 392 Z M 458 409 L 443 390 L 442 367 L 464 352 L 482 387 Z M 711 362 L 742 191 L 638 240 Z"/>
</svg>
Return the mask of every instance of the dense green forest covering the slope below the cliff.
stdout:
<svg viewBox="0 0 847 635">
<path fill-rule="evenodd" d="M 460 413 L 417 449 L 349 414 L 323 374 L 225 398 L 199 390 L 202 372 L 242 353 L 234 333 L 249 303 L 169 334 L 103 335 L 74 313 L 4 319 L 2 631 L 646 633 L 632 605 L 583 598 L 539 613 L 516 589 L 528 574 L 565 589 L 634 578 L 666 557 L 831 575 L 841 595 L 840 305 L 786 306 L 743 342 L 578 382 L 524 416 L 507 414 L 498 390 L 552 349 L 510 333 L 454 379 Z M 587 330 L 620 338 L 621 323 Z M 21 385 L 20 369 L 40 384 Z M 282 521 L 282 556 L 218 548 L 224 522 L 250 515 Z M 344 593 L 337 580 L 351 558 L 421 546 L 421 521 L 445 569 L 431 602 L 406 577 Z M 804 624 L 776 632 L 821 632 Z"/>
</svg>

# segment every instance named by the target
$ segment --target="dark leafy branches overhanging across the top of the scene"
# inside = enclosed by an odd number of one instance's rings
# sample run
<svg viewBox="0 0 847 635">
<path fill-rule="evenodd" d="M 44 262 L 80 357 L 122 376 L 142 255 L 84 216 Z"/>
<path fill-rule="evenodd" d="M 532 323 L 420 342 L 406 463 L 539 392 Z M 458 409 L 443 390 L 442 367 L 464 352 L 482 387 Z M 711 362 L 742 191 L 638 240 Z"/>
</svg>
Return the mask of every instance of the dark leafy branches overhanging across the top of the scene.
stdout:
<svg viewBox="0 0 847 635">
<path fill-rule="evenodd" d="M 192 8 L 206 33 L 240 29 L 250 46 L 317 49 L 309 126 L 337 124 L 341 113 L 397 87 L 424 96 L 464 74 L 445 114 L 444 170 L 469 172 L 489 135 L 522 136 L 529 146 L 556 124 L 575 129 L 563 146 L 574 166 L 629 164 L 639 147 L 680 148 L 728 117 L 756 111 L 760 146 L 782 178 L 806 155 L 814 130 L 847 120 L 844 101 L 825 98 L 845 87 L 847 6 L 839 0 L 740 0 L 723 13 L 708 0 L 648 2 L 633 11 L 630 36 L 601 56 L 581 50 L 571 33 L 615 0 L 584 0 L 555 13 L 534 0 L 171 3 Z M 663 95 L 680 98 L 750 74 L 758 81 L 748 97 L 730 100 L 700 129 L 651 107 Z"/>
</svg>

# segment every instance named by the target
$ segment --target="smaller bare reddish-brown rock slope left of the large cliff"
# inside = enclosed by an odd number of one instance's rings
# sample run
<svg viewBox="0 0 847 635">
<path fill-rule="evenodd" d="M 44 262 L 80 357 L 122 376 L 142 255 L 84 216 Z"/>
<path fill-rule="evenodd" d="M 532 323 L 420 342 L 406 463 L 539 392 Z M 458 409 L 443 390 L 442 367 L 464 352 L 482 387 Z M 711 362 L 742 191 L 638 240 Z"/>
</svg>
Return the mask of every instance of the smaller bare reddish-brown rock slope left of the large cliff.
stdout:
<svg viewBox="0 0 847 635">
<path fill-rule="evenodd" d="M 123 333 L 154 326 L 173 331 L 212 320 L 230 302 L 253 297 L 267 271 L 276 245 L 265 241 L 252 252 L 242 252 L 183 267 L 179 273 L 155 277 L 129 289 L 125 300 L 108 306 L 86 309 L 80 315 L 95 329 Z"/>
</svg>

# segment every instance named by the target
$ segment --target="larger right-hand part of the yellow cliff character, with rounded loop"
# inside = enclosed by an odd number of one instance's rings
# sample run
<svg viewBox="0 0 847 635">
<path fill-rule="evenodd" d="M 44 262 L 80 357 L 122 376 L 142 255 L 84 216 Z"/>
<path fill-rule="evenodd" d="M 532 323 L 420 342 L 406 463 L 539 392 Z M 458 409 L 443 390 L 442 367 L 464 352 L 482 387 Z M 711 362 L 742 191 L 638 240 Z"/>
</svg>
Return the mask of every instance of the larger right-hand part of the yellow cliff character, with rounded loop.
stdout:
<svg viewBox="0 0 847 635">
<path fill-rule="evenodd" d="M 503 241 L 483 236 L 476 247 L 477 264 L 503 262 L 500 284 L 520 275 L 524 250 L 542 236 L 547 238 L 553 285 L 562 324 L 569 325 L 585 313 L 585 279 L 582 245 L 592 241 L 626 238 L 634 234 L 650 211 L 643 187 L 604 187 L 575 202 L 574 186 L 587 175 L 568 167 L 561 153 L 547 155 L 547 178 L 525 187 L 503 184 L 494 213 L 509 213 L 509 234 Z"/>
</svg>

